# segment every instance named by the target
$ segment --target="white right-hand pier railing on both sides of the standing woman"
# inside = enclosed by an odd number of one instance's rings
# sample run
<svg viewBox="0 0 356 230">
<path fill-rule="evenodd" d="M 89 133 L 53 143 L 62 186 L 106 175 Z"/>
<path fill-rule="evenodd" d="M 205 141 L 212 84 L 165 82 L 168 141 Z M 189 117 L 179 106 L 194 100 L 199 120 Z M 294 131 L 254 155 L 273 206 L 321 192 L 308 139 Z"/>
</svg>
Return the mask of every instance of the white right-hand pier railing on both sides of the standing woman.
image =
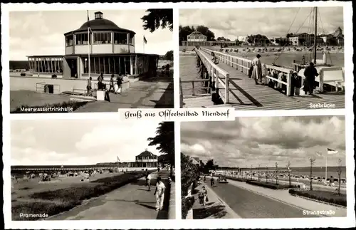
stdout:
<svg viewBox="0 0 356 230">
<path fill-rule="evenodd" d="M 233 68 L 236 68 L 236 70 L 241 70 L 242 73 L 248 74 L 248 69 L 252 65 L 252 61 L 246 58 L 241 58 L 238 56 L 232 56 L 227 53 L 221 53 L 219 51 L 213 51 L 208 48 L 199 48 L 199 50 L 204 51 L 204 53 L 211 54 L 211 52 L 214 52 L 215 56 L 219 58 L 219 61 L 222 63 L 225 63 L 228 66 L 231 66 Z M 270 70 L 275 70 L 278 73 L 283 73 L 283 75 L 286 75 L 286 81 L 280 80 L 278 78 L 274 78 L 272 75 L 268 75 L 268 69 Z M 291 88 L 292 88 L 292 70 L 288 68 L 282 68 L 278 66 L 272 66 L 268 64 L 262 63 L 262 73 L 265 78 L 268 80 L 271 80 L 274 84 L 273 87 L 276 86 L 276 84 L 280 83 L 282 85 L 286 85 L 286 95 L 291 95 Z"/>
</svg>

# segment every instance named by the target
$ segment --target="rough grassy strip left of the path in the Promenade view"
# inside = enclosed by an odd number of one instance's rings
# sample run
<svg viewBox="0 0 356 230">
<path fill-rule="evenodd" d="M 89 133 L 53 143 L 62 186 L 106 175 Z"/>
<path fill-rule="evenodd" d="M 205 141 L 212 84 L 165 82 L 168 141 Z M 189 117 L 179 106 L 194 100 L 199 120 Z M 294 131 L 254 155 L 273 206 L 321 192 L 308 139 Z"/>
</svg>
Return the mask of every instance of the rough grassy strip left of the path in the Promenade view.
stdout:
<svg viewBox="0 0 356 230">
<path fill-rule="evenodd" d="M 38 179 L 15 184 L 11 192 L 11 214 L 16 220 L 24 219 L 20 214 L 48 214 L 53 216 L 68 211 L 85 199 L 99 197 L 125 184 L 143 177 L 144 172 L 96 174 L 90 182 L 80 182 L 80 177 L 63 177 L 56 183 L 38 184 Z"/>
</svg>

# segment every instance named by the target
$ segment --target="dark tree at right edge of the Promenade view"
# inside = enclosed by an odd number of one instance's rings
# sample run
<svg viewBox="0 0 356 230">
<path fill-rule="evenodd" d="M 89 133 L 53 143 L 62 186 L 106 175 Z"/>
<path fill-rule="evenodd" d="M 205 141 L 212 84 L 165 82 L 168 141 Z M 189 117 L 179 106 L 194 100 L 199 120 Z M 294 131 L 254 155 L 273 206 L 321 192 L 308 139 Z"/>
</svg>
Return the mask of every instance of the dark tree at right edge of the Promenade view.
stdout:
<svg viewBox="0 0 356 230">
<path fill-rule="evenodd" d="M 169 157 L 171 165 L 170 175 L 173 174 L 174 166 L 174 122 L 160 122 L 156 129 L 156 136 L 147 138 L 149 146 L 157 145 L 160 153 L 165 153 Z"/>
</svg>

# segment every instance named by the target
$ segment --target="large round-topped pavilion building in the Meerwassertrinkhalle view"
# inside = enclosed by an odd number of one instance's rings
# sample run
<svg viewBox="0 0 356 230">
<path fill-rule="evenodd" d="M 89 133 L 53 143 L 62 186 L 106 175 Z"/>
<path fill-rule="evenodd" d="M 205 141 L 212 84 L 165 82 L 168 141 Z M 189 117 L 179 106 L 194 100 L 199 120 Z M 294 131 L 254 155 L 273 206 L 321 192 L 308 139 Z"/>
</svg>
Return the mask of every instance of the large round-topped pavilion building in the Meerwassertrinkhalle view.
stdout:
<svg viewBox="0 0 356 230">
<path fill-rule="evenodd" d="M 12 80 L 11 90 L 23 90 L 23 85 L 33 90 L 40 81 L 52 83 L 53 80 L 46 80 L 48 78 L 57 78 L 56 85 L 61 91 L 73 90 L 78 81 L 68 80 L 87 80 L 89 75 L 96 79 L 100 73 L 103 73 L 104 80 L 108 80 L 111 74 L 127 75 L 132 79 L 157 70 L 159 56 L 136 53 L 135 32 L 104 19 L 100 11 L 95 12 L 93 20 L 64 33 L 63 43 L 64 55 L 28 56 L 30 73 L 21 77 L 41 80 Z M 85 85 L 81 87 L 85 88 Z"/>
</svg>

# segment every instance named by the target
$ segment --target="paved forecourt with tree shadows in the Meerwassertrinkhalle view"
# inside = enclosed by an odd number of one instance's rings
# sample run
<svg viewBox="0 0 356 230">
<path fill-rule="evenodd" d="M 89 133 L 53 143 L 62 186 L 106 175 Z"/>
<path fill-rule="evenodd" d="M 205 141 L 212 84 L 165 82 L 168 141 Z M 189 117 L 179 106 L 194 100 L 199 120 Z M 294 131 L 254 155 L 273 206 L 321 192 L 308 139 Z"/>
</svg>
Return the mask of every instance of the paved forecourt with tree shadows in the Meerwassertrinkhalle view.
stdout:
<svg viewBox="0 0 356 230">
<path fill-rule="evenodd" d="M 121 94 L 110 93 L 110 103 L 95 101 L 75 112 L 117 112 L 119 108 L 174 108 L 173 78 L 149 78 L 130 83 L 130 88 Z"/>
</svg>

